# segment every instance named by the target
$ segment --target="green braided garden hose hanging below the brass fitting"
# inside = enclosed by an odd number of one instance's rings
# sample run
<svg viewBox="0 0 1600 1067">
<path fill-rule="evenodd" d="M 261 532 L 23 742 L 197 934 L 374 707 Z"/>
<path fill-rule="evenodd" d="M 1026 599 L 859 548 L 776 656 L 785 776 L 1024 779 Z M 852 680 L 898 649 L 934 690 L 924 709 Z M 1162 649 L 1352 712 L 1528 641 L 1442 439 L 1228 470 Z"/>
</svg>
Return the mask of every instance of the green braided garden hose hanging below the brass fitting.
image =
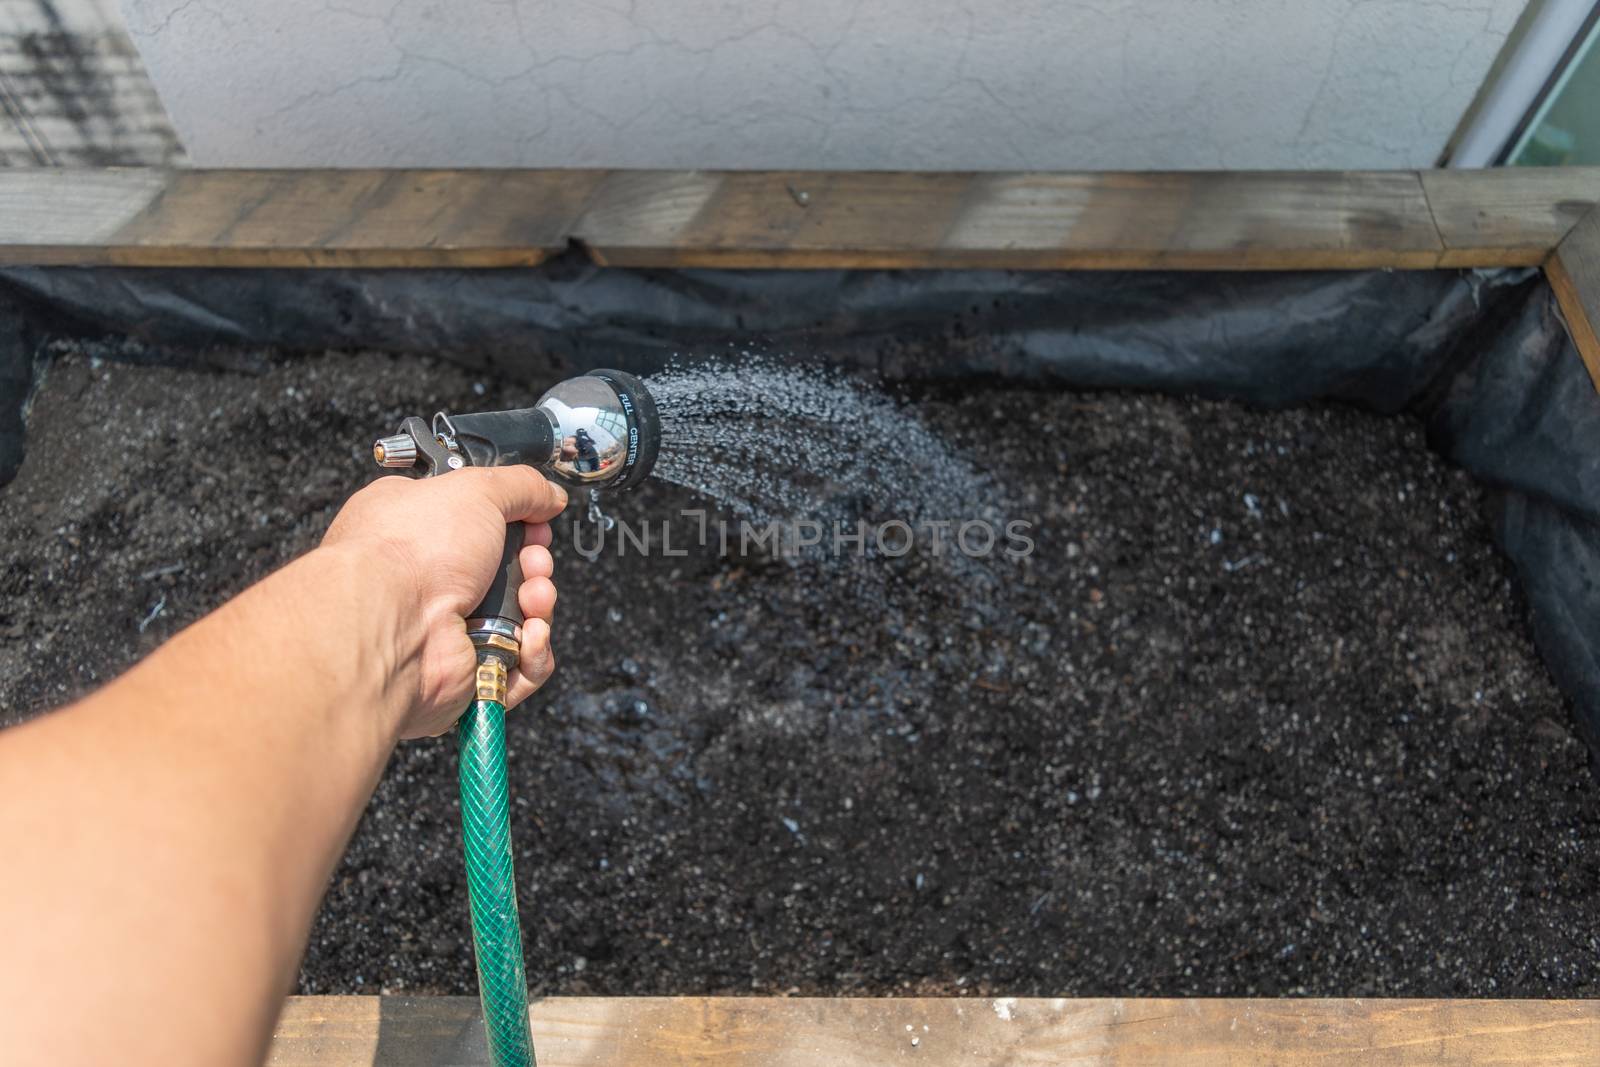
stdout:
<svg viewBox="0 0 1600 1067">
<path fill-rule="evenodd" d="M 461 835 L 490 1059 L 496 1067 L 533 1067 L 506 785 L 506 705 L 474 701 L 459 731 Z"/>
</svg>

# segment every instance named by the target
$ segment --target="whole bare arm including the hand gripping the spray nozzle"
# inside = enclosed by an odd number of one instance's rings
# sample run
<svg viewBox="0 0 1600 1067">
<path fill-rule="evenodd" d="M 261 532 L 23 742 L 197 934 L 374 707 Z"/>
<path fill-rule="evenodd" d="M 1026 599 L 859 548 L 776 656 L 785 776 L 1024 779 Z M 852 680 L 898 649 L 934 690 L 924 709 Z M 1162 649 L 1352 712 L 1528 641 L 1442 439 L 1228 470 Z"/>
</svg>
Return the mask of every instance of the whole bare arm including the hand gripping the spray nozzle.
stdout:
<svg viewBox="0 0 1600 1067">
<path fill-rule="evenodd" d="M 6 1062 L 261 1061 L 390 750 L 470 699 L 464 616 L 507 522 L 531 523 L 510 701 L 554 669 L 565 502 L 526 467 L 382 478 L 318 549 L 0 734 Z"/>
</svg>

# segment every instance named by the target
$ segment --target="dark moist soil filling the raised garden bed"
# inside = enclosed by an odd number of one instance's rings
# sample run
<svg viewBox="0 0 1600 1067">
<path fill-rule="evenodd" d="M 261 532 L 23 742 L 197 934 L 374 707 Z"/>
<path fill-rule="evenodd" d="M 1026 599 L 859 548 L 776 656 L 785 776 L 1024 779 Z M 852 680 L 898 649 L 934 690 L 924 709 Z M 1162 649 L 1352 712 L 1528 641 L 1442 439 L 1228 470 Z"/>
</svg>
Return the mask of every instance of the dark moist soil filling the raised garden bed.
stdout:
<svg viewBox="0 0 1600 1067">
<path fill-rule="evenodd" d="M 59 358 L 0 490 L 5 718 L 310 549 L 402 413 L 542 384 Z M 1416 422 L 918 408 L 1035 523 L 998 593 L 925 550 L 718 558 L 666 485 L 613 507 L 686 555 L 558 530 L 562 665 L 510 720 L 536 993 L 1600 993 L 1587 750 Z M 454 789 L 451 741 L 394 757 L 302 992 L 474 992 Z"/>
</svg>

